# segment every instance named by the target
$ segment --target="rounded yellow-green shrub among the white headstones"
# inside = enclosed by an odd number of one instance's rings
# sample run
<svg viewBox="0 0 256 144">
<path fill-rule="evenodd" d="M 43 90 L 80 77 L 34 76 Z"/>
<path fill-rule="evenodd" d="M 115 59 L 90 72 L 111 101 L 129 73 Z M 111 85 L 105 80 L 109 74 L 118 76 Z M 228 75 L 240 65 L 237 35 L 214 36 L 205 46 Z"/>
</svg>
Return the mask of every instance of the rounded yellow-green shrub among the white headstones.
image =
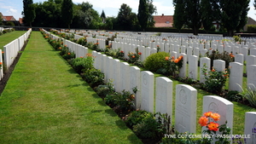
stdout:
<svg viewBox="0 0 256 144">
<path fill-rule="evenodd" d="M 164 67 L 166 56 L 170 56 L 170 54 L 166 52 L 159 52 L 149 55 L 144 63 L 145 68 L 151 72 L 156 72 L 158 69 Z"/>
</svg>

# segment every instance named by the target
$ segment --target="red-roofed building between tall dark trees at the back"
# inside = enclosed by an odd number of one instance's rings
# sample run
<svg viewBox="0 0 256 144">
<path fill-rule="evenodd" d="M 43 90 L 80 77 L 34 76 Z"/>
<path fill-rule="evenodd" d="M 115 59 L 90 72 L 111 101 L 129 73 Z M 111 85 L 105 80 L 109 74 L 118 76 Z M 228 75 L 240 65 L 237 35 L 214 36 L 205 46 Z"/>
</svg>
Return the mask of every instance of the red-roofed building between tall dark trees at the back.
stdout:
<svg viewBox="0 0 256 144">
<path fill-rule="evenodd" d="M 172 15 L 154 15 L 154 27 L 172 27 L 173 16 Z"/>
</svg>

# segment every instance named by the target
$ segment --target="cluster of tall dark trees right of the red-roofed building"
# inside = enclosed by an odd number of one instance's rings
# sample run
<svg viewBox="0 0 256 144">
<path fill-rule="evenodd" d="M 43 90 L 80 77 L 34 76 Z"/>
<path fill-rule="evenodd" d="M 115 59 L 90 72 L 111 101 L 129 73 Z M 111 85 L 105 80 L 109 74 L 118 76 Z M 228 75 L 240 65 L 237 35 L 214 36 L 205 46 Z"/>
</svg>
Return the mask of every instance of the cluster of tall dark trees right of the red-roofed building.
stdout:
<svg viewBox="0 0 256 144">
<path fill-rule="evenodd" d="M 195 35 L 203 27 L 207 32 L 212 21 L 218 23 L 233 36 L 247 24 L 250 0 L 173 0 L 173 23 L 177 30 L 192 28 Z M 254 0 L 256 3 L 256 0 Z M 254 6 L 256 6 L 254 4 Z"/>
</svg>

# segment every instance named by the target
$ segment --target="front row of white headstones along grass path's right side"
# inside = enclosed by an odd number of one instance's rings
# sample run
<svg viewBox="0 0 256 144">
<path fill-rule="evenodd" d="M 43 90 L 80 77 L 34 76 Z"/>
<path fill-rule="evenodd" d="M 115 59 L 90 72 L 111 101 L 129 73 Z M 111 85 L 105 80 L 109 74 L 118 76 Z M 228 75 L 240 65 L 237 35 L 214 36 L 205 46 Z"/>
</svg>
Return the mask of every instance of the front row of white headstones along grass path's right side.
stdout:
<svg viewBox="0 0 256 144">
<path fill-rule="evenodd" d="M 136 108 L 154 112 L 155 103 L 155 112 L 167 113 L 172 118 L 171 79 L 166 77 L 154 78 L 152 72 L 141 72 L 137 66 L 129 66 L 126 62 L 120 62 L 96 51 L 93 51 L 93 55 L 96 56 L 94 66 L 105 73 L 106 81 L 113 79 L 116 91 L 121 92 L 125 89 L 132 92 L 134 87 L 139 89 L 135 100 Z M 197 90 L 186 84 L 177 84 L 175 96 L 175 129 L 182 133 L 187 131 L 195 133 L 197 124 Z M 225 124 L 225 121 L 227 121 L 227 125 L 231 130 L 233 128 L 233 107 L 233 103 L 222 97 L 215 95 L 203 97 L 203 113 L 218 112 L 221 116 L 218 124 Z M 256 126 L 256 112 L 247 112 L 246 117 L 245 134 L 253 137 L 253 133 L 250 130 Z M 256 141 L 255 137 L 252 140 Z"/>
</svg>

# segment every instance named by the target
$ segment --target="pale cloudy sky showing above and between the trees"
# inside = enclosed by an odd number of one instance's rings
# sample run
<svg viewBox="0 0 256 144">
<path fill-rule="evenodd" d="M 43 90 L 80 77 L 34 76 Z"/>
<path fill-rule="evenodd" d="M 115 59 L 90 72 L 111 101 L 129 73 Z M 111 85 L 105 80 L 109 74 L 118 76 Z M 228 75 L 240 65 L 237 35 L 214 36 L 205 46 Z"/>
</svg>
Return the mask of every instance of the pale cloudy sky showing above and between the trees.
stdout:
<svg viewBox="0 0 256 144">
<path fill-rule="evenodd" d="M 33 0 L 33 3 L 43 3 L 47 0 Z M 102 14 L 104 10 L 107 16 L 117 16 L 119 8 L 122 3 L 126 3 L 132 9 L 132 12 L 137 14 L 139 0 L 73 0 L 73 3 L 89 2 L 93 5 L 93 9 L 99 14 Z M 154 6 L 157 8 L 157 14 L 172 15 L 174 8 L 172 0 L 153 0 Z M 21 12 L 23 10 L 22 0 L 0 0 L 0 12 L 3 15 L 13 15 L 16 20 L 22 17 Z M 253 7 L 253 0 L 250 2 L 250 10 L 248 16 L 256 20 L 256 10 Z"/>
</svg>

